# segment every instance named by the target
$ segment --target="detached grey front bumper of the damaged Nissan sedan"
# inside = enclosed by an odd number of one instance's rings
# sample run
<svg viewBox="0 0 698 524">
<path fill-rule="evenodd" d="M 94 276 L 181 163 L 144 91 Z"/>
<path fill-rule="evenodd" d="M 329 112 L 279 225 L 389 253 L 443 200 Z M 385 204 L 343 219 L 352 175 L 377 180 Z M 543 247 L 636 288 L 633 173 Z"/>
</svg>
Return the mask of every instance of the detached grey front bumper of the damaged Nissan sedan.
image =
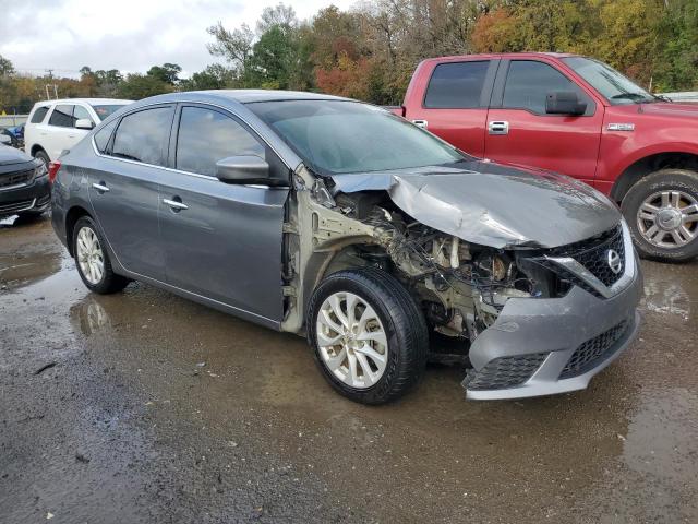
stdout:
<svg viewBox="0 0 698 524">
<path fill-rule="evenodd" d="M 622 289 L 601 298 L 512 298 L 470 347 L 462 381 L 470 400 L 522 398 L 583 390 L 628 347 L 639 326 L 642 275 L 630 246 Z"/>
</svg>

